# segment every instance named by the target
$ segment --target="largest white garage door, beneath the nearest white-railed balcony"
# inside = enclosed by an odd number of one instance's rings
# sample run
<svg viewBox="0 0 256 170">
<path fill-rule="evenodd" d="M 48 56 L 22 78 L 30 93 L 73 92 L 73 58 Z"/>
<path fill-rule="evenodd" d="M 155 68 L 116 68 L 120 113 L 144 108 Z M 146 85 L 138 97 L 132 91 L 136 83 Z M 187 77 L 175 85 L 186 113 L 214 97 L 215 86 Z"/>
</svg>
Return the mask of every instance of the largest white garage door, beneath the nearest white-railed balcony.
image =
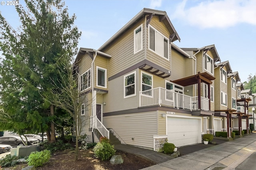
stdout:
<svg viewBox="0 0 256 170">
<path fill-rule="evenodd" d="M 201 119 L 167 117 L 168 142 L 175 146 L 201 143 Z"/>
</svg>

